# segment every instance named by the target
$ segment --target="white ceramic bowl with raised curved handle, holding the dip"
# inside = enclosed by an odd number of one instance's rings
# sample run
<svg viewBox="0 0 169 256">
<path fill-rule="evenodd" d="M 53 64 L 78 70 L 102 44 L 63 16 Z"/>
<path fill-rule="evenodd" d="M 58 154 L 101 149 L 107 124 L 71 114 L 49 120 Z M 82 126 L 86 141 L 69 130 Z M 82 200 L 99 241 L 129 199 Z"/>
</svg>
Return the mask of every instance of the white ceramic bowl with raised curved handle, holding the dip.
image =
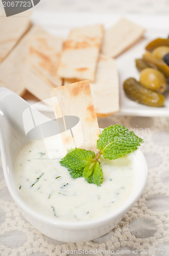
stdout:
<svg viewBox="0 0 169 256">
<path fill-rule="evenodd" d="M 96 220 L 63 222 L 44 217 L 30 208 L 19 196 L 14 178 L 14 161 L 25 137 L 22 113 L 29 104 L 12 91 L 0 88 L 0 138 L 4 176 L 13 200 L 24 217 L 46 236 L 63 242 L 85 242 L 103 236 L 114 228 L 139 199 L 147 180 L 147 164 L 143 153 L 131 153 L 136 169 L 135 184 L 129 198 L 119 208 Z"/>
</svg>

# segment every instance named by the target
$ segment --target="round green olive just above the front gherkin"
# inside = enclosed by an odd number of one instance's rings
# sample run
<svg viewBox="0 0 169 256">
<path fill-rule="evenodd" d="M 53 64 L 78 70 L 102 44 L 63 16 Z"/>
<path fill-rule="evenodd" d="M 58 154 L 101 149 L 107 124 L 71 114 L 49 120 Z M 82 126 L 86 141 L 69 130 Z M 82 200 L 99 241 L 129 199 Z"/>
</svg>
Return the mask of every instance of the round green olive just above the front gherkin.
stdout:
<svg viewBox="0 0 169 256">
<path fill-rule="evenodd" d="M 166 89 L 166 79 L 164 75 L 152 68 L 144 69 L 140 72 L 140 83 L 142 83 L 145 87 L 163 93 Z"/>
</svg>

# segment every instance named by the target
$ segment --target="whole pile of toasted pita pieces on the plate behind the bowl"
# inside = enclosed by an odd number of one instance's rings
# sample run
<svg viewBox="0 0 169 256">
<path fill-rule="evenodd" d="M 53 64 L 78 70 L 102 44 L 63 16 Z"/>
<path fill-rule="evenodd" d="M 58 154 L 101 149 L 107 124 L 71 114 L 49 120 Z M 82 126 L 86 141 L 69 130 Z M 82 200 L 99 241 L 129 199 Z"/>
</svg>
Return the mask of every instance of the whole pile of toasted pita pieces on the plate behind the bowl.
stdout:
<svg viewBox="0 0 169 256">
<path fill-rule="evenodd" d="M 52 89 L 89 80 L 97 116 L 119 111 L 115 57 L 142 37 L 142 27 L 122 18 L 106 31 L 102 25 L 74 28 L 63 40 L 31 26 L 29 15 L 20 19 L 0 20 L 1 87 L 44 100 Z"/>
</svg>

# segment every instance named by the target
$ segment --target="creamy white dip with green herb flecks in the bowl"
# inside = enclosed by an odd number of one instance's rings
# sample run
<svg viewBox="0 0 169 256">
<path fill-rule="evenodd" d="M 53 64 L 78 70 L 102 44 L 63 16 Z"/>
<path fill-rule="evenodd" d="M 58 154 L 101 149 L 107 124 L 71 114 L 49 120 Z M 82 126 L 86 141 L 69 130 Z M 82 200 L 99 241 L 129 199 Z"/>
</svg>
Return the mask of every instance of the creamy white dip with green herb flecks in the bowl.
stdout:
<svg viewBox="0 0 169 256">
<path fill-rule="evenodd" d="M 59 161 L 48 159 L 43 140 L 27 143 L 16 157 L 19 194 L 44 216 L 63 221 L 96 219 L 122 205 L 132 191 L 132 153 L 117 160 L 100 159 L 104 175 L 101 186 L 82 177 L 73 179 Z"/>
</svg>

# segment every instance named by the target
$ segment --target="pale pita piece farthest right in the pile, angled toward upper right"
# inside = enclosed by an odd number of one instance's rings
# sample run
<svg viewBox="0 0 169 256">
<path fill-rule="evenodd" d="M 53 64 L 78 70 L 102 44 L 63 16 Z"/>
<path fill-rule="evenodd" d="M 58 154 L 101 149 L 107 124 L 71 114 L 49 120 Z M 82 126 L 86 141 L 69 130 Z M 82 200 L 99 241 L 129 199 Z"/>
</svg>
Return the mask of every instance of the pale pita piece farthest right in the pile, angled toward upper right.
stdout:
<svg viewBox="0 0 169 256">
<path fill-rule="evenodd" d="M 137 42 L 144 31 L 144 28 L 130 20 L 121 18 L 117 24 L 105 31 L 102 53 L 110 57 L 117 57 Z"/>
</svg>

